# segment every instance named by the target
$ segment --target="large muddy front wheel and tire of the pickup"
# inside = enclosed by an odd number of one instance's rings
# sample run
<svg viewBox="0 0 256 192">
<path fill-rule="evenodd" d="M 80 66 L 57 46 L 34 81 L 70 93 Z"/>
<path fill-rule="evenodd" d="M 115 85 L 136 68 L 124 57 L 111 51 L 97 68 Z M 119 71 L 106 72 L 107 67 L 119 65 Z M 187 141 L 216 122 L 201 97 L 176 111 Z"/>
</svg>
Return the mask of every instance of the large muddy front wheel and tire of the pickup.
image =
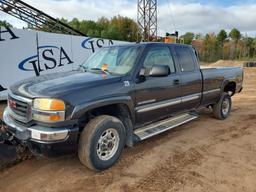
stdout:
<svg viewBox="0 0 256 192">
<path fill-rule="evenodd" d="M 116 117 L 100 115 L 92 119 L 80 135 L 80 162 L 94 171 L 110 168 L 123 151 L 125 135 L 125 127 Z"/>
</svg>

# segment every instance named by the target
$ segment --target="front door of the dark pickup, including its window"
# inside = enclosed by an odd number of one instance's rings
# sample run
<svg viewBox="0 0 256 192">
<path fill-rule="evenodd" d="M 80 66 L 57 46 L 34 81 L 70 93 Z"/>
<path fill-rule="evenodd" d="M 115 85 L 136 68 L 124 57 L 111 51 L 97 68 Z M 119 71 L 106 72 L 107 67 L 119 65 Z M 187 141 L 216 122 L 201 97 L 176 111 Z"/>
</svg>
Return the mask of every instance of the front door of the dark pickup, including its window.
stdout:
<svg viewBox="0 0 256 192">
<path fill-rule="evenodd" d="M 176 112 L 181 103 L 180 75 L 177 73 L 173 56 L 167 45 L 148 47 L 144 54 L 142 67 L 149 72 L 153 65 L 168 65 L 170 75 L 151 77 L 145 75 L 136 86 L 136 123 L 141 125 L 157 121 Z M 139 78 L 139 77 L 138 77 Z"/>
</svg>

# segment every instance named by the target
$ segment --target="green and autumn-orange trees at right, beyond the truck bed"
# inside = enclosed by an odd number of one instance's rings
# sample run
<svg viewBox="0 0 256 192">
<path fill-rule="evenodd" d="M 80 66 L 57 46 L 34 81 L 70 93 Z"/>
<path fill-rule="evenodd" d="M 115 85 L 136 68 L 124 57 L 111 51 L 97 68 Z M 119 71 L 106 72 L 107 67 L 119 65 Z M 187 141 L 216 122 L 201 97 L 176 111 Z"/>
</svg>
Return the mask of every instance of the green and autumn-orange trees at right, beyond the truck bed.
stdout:
<svg viewBox="0 0 256 192">
<path fill-rule="evenodd" d="M 202 35 L 188 32 L 181 38 L 186 44 L 192 44 L 197 49 L 201 61 L 253 60 L 256 58 L 256 38 L 243 36 L 236 28 L 229 33 L 222 29 L 218 34 Z"/>
</svg>

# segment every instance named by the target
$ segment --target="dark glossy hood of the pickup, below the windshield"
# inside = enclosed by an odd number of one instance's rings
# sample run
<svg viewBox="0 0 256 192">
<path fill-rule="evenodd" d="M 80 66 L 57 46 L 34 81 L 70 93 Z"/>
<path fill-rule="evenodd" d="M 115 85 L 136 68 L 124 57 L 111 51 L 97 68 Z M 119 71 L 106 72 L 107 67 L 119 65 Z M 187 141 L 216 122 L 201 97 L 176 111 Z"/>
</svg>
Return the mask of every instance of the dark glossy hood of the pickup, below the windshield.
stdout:
<svg viewBox="0 0 256 192">
<path fill-rule="evenodd" d="M 53 73 L 20 81 L 10 87 L 13 94 L 28 97 L 61 97 L 76 89 L 101 86 L 121 80 L 121 76 L 83 71 Z"/>
</svg>

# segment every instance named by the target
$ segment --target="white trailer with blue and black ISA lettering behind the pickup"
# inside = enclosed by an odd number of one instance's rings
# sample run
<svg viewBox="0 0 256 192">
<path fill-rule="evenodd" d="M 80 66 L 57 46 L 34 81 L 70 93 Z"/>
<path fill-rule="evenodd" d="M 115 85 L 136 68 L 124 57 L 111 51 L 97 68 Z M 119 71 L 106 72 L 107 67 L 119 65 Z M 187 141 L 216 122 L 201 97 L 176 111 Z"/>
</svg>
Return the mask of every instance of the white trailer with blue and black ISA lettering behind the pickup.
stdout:
<svg viewBox="0 0 256 192">
<path fill-rule="evenodd" d="M 77 69 L 97 49 L 120 43 L 125 42 L 0 27 L 0 100 L 15 82 Z"/>
</svg>

